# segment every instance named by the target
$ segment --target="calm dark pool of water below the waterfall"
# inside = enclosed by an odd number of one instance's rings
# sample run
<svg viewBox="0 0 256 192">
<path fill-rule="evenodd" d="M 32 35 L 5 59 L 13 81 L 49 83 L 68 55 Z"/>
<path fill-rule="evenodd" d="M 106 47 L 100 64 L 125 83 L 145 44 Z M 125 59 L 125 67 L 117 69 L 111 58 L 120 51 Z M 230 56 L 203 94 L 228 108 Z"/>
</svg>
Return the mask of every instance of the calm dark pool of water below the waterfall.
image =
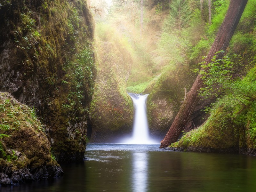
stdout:
<svg viewBox="0 0 256 192">
<path fill-rule="evenodd" d="M 256 157 L 172 152 L 159 145 L 88 144 L 84 163 L 54 181 L 0 187 L 19 192 L 256 191 Z"/>
</svg>

